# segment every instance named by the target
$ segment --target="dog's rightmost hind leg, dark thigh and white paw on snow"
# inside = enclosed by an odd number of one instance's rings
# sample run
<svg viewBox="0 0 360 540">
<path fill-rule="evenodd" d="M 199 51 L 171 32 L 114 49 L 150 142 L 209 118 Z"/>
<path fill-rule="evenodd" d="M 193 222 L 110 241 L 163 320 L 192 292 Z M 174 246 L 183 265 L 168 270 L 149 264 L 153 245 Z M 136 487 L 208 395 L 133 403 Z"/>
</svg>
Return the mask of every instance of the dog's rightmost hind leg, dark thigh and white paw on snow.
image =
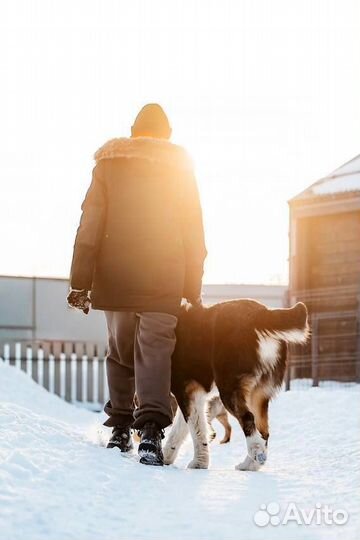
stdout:
<svg viewBox="0 0 360 540">
<path fill-rule="evenodd" d="M 246 386 L 246 384 L 240 384 L 232 392 L 220 389 L 220 396 L 227 410 L 239 421 L 246 437 L 248 455 L 235 468 L 240 471 L 258 471 L 266 461 L 266 441 L 258 431 L 255 417 L 247 405 Z"/>
</svg>

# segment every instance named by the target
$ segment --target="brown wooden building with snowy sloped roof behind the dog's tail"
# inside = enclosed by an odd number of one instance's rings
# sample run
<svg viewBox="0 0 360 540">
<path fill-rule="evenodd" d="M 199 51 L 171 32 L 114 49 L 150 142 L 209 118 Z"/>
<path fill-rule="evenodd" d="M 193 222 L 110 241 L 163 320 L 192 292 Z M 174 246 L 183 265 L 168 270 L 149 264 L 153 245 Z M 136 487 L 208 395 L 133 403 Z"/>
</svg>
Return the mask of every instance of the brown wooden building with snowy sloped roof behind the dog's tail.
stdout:
<svg viewBox="0 0 360 540">
<path fill-rule="evenodd" d="M 360 155 L 289 206 L 289 301 L 306 303 L 312 326 L 291 376 L 360 382 Z"/>
</svg>

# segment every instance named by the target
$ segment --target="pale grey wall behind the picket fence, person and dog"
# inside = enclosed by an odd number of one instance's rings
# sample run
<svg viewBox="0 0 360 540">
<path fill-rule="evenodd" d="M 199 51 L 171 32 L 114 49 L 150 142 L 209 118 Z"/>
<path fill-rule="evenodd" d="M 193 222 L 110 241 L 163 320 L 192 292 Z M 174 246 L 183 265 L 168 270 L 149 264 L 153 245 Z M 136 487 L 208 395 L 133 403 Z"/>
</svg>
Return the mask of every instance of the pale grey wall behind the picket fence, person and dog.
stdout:
<svg viewBox="0 0 360 540">
<path fill-rule="evenodd" d="M 272 307 L 284 305 L 286 287 L 277 285 L 204 285 L 204 303 L 254 298 Z M 68 280 L 0 276 L 0 341 L 90 341 L 105 345 L 101 311 L 89 315 L 66 303 Z"/>
</svg>

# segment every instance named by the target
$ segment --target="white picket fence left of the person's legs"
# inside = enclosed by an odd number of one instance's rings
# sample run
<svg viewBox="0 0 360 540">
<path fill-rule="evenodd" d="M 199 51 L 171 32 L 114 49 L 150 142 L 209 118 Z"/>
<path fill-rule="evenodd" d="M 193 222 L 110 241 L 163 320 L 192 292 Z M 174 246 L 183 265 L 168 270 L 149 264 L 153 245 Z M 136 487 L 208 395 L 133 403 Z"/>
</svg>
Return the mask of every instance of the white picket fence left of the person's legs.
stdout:
<svg viewBox="0 0 360 540">
<path fill-rule="evenodd" d="M 25 371 L 52 394 L 94 411 L 108 399 L 106 351 L 92 343 L 4 343 L 0 359 Z"/>
</svg>

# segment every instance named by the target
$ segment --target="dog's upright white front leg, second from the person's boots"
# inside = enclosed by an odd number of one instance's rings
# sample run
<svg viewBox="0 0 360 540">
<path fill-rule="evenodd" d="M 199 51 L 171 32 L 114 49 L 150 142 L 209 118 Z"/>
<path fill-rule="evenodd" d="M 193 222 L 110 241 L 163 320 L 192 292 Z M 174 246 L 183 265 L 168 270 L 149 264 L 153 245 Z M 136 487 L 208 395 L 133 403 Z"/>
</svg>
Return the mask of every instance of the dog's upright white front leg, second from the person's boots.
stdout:
<svg viewBox="0 0 360 540">
<path fill-rule="evenodd" d="M 190 401 L 189 429 L 194 444 L 194 458 L 188 464 L 189 469 L 207 469 L 209 467 L 208 423 L 205 412 L 205 391 L 198 389 Z"/>
</svg>

